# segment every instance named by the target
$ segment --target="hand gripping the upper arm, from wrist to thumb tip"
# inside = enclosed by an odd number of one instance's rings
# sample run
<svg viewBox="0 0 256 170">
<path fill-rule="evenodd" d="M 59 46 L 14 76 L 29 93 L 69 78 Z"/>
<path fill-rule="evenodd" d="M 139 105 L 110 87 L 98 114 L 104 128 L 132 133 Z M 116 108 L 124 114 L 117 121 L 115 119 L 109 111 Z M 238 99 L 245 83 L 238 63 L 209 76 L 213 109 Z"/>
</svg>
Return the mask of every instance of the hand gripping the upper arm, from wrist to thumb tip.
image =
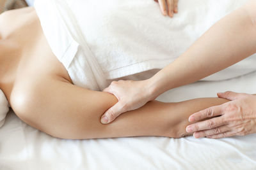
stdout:
<svg viewBox="0 0 256 170">
<path fill-rule="evenodd" d="M 136 110 L 152 100 L 148 89 L 148 80 L 132 81 L 119 80 L 112 81 L 111 85 L 103 90 L 113 94 L 118 99 L 113 107 L 109 108 L 101 117 L 102 124 L 113 122 L 116 117 L 125 111 Z"/>
</svg>

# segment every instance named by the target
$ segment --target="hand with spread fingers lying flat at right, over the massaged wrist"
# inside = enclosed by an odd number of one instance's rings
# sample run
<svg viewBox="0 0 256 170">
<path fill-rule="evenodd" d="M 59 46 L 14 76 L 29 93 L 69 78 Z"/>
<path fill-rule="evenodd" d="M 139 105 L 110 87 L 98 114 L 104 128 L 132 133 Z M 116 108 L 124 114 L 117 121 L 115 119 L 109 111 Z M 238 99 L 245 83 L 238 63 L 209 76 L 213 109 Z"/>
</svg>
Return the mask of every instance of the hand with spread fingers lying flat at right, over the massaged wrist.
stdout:
<svg viewBox="0 0 256 170">
<path fill-rule="evenodd" d="M 191 115 L 189 122 L 210 119 L 188 125 L 187 132 L 193 132 L 195 138 L 225 138 L 256 133 L 255 95 L 224 92 L 218 93 L 218 97 L 230 101 Z"/>
</svg>

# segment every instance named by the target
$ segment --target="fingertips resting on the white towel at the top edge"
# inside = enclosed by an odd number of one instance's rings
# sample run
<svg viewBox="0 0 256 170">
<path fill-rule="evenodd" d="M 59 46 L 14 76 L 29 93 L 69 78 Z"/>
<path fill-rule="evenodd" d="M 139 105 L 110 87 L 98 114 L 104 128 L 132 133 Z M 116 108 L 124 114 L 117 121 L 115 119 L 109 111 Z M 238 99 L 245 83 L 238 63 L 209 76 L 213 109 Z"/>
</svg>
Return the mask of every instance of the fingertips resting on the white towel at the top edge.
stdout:
<svg viewBox="0 0 256 170">
<path fill-rule="evenodd" d="M 163 15 L 173 17 L 173 13 L 178 13 L 179 0 L 154 0 L 159 3 Z"/>
</svg>

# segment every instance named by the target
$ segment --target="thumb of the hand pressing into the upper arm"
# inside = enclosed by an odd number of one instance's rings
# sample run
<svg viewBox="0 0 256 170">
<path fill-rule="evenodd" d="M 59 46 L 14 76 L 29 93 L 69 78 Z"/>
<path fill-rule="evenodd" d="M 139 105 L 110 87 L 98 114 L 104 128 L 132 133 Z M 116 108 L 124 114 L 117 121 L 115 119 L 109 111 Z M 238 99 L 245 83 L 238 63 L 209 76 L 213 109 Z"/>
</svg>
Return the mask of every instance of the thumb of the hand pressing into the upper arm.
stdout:
<svg viewBox="0 0 256 170">
<path fill-rule="evenodd" d="M 115 120 L 116 117 L 118 117 L 125 111 L 127 110 L 124 109 L 124 106 L 119 101 L 102 115 L 100 122 L 102 124 L 109 124 L 110 122 L 113 122 L 113 120 Z"/>
</svg>

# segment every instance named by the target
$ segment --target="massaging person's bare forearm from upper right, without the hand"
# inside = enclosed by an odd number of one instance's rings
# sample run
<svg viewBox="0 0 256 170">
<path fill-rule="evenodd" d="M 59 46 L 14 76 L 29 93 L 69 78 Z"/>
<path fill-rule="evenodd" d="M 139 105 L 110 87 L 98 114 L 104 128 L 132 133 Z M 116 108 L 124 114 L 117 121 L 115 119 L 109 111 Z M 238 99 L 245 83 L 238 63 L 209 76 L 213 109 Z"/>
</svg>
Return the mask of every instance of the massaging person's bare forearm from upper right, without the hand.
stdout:
<svg viewBox="0 0 256 170">
<path fill-rule="evenodd" d="M 155 96 L 200 80 L 256 52 L 256 8 L 251 1 L 214 24 L 185 53 L 150 79 Z"/>
</svg>

